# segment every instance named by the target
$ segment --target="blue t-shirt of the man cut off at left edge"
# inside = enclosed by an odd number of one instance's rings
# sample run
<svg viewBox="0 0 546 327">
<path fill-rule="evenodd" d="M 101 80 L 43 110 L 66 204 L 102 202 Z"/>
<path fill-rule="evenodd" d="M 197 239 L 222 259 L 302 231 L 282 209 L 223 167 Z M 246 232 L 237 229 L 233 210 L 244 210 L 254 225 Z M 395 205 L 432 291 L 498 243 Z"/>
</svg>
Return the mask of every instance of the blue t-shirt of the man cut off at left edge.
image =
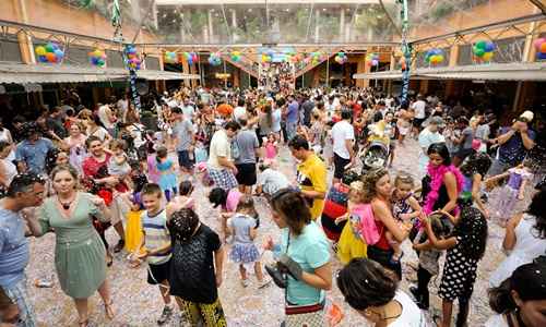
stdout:
<svg viewBox="0 0 546 327">
<path fill-rule="evenodd" d="M 10 288 L 24 278 L 28 257 L 23 218 L 0 208 L 0 287 Z"/>
</svg>

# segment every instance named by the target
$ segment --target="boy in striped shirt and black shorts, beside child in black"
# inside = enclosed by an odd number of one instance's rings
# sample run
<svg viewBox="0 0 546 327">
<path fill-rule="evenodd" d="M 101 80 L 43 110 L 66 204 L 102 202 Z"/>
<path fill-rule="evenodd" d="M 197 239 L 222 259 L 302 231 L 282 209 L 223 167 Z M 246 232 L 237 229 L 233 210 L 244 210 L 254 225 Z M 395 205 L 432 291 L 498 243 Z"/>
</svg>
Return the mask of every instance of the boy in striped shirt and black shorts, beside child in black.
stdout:
<svg viewBox="0 0 546 327">
<path fill-rule="evenodd" d="M 162 189 L 157 184 L 146 184 L 142 189 L 142 203 L 146 210 L 141 217 L 144 238 L 138 249 L 144 250 L 140 255 L 133 253 L 134 257 L 147 261 L 147 283 L 159 286 L 165 307 L 157 319 L 158 325 L 167 323 L 173 315 L 167 280 L 170 271 L 170 233 L 167 229 L 167 215 L 162 208 Z"/>
</svg>

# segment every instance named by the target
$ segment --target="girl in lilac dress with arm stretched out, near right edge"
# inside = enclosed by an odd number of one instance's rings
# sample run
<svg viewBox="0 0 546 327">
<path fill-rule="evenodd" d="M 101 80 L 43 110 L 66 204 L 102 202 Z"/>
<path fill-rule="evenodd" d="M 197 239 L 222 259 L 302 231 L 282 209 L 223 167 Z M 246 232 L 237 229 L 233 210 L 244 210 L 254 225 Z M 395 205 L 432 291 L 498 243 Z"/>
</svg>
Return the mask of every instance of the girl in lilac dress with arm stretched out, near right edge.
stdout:
<svg viewBox="0 0 546 327">
<path fill-rule="evenodd" d="M 530 161 L 510 168 L 507 172 L 488 178 L 485 181 L 486 185 L 490 185 L 498 180 L 508 177 L 507 184 L 500 190 L 497 202 L 491 203 L 491 217 L 495 218 L 501 227 L 507 225 L 507 221 L 514 214 L 514 207 L 518 201 L 524 198 L 526 183 L 532 179 L 533 174 L 530 171 Z"/>
</svg>

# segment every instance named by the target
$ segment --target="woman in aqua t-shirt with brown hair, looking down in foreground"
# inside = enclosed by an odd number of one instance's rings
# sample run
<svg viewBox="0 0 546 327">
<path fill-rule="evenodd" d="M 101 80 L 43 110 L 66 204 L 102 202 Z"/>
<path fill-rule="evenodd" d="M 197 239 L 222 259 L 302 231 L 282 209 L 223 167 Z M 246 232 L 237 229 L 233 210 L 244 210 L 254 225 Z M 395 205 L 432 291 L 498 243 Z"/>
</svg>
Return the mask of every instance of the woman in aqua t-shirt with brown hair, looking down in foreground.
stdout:
<svg viewBox="0 0 546 327">
<path fill-rule="evenodd" d="M 324 233 L 311 220 L 301 193 L 280 190 L 272 196 L 271 206 L 273 221 L 282 229 L 280 262 L 289 271 L 285 280 L 285 326 L 324 326 L 324 291 L 332 287 Z M 275 249 L 271 240 L 266 247 Z"/>
</svg>

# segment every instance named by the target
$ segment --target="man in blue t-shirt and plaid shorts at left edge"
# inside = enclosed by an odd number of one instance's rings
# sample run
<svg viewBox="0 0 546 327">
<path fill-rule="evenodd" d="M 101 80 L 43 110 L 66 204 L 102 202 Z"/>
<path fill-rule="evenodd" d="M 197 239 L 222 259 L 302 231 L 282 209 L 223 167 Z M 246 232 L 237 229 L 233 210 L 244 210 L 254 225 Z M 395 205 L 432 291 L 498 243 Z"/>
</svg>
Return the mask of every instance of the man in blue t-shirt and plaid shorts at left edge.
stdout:
<svg viewBox="0 0 546 327">
<path fill-rule="evenodd" d="M 26 290 L 25 268 L 29 249 L 25 238 L 24 217 L 44 199 L 44 180 L 34 173 L 13 178 L 8 196 L 0 201 L 0 287 L 19 307 L 17 326 L 36 326 L 36 318 Z"/>
</svg>

